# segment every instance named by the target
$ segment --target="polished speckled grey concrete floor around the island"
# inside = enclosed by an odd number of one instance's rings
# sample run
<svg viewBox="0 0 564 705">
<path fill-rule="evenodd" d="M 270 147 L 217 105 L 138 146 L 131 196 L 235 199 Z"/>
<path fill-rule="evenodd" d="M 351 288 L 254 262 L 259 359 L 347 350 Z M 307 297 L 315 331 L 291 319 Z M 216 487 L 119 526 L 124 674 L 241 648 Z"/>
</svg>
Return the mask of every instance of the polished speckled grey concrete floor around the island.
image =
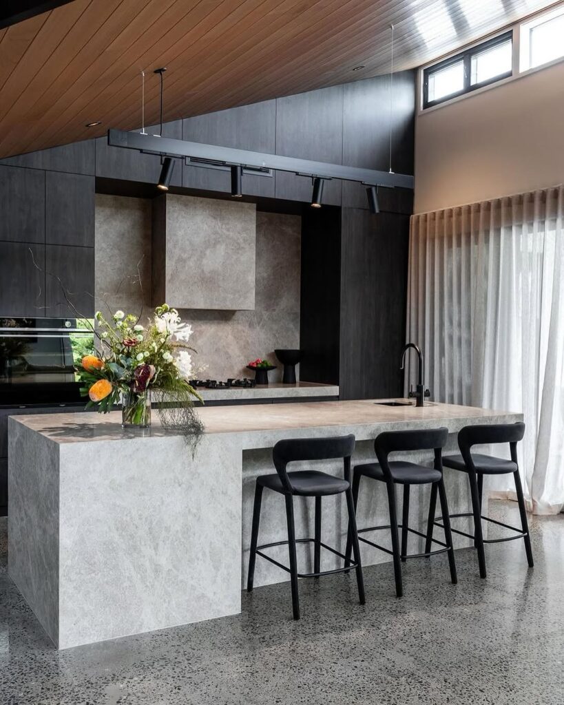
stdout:
<svg viewBox="0 0 564 705">
<path fill-rule="evenodd" d="M 58 652 L 8 578 L 2 520 L 0 703 L 562 705 L 564 515 L 531 526 L 532 570 L 522 541 L 495 544 L 480 580 L 464 549 L 456 586 L 443 556 L 408 562 L 401 600 L 388 563 L 365 569 L 363 607 L 352 574 L 302 580 L 297 623 L 277 584 L 235 617 Z"/>
</svg>

